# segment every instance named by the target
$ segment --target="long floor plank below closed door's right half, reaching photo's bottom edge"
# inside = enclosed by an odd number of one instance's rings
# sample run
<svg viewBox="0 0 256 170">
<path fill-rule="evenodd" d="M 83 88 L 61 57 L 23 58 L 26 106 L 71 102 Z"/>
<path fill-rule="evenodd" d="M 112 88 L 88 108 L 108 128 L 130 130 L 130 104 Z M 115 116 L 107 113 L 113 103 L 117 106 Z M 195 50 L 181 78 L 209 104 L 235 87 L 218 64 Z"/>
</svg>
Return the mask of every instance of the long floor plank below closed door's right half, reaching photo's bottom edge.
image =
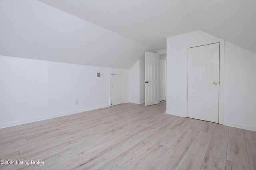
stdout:
<svg viewBox="0 0 256 170">
<path fill-rule="evenodd" d="M 177 166 L 177 170 L 200 169 L 210 144 L 212 133 L 200 131 L 188 151 Z"/>
</svg>

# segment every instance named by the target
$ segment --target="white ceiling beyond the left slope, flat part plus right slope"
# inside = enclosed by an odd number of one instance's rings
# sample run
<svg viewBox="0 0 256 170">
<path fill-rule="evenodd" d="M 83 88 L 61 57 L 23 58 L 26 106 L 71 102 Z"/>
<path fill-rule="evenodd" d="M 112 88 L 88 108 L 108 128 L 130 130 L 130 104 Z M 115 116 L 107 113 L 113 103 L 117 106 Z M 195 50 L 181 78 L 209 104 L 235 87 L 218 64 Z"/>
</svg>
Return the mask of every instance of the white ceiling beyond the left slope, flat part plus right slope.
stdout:
<svg viewBox="0 0 256 170">
<path fill-rule="evenodd" d="M 255 0 L 39 1 L 158 50 L 199 29 L 256 52 Z"/>
</svg>

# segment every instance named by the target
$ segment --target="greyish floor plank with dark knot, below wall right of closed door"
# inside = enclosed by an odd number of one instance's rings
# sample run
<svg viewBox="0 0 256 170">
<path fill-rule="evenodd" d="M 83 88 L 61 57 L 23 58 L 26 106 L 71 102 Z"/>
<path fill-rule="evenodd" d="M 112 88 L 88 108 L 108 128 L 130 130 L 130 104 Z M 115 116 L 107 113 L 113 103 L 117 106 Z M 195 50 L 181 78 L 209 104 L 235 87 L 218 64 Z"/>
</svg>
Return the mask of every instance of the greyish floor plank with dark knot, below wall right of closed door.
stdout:
<svg viewBox="0 0 256 170">
<path fill-rule="evenodd" d="M 248 168 L 250 167 L 242 129 L 229 128 L 227 160 Z"/>
</svg>

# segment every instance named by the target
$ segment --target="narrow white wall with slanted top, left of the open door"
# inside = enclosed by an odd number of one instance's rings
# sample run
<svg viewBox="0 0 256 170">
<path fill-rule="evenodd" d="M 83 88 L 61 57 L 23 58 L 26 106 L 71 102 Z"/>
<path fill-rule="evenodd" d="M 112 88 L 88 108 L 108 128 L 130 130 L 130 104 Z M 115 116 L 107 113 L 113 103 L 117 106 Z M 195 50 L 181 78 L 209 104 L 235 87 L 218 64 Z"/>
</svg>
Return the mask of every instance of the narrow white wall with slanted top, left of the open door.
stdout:
<svg viewBox="0 0 256 170">
<path fill-rule="evenodd" d="M 130 102 L 140 104 L 140 60 L 130 69 Z"/>
</svg>

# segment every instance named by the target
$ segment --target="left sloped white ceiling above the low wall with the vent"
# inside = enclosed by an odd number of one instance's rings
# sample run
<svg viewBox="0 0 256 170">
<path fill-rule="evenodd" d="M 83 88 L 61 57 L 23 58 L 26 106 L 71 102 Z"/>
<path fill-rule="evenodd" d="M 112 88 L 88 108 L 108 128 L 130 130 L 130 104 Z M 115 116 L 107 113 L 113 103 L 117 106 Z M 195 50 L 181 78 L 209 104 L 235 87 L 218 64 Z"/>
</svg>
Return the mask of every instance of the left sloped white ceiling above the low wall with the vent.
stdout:
<svg viewBox="0 0 256 170">
<path fill-rule="evenodd" d="M 36 0 L 0 0 L 0 23 L 3 56 L 130 69 L 157 51 Z"/>
</svg>

